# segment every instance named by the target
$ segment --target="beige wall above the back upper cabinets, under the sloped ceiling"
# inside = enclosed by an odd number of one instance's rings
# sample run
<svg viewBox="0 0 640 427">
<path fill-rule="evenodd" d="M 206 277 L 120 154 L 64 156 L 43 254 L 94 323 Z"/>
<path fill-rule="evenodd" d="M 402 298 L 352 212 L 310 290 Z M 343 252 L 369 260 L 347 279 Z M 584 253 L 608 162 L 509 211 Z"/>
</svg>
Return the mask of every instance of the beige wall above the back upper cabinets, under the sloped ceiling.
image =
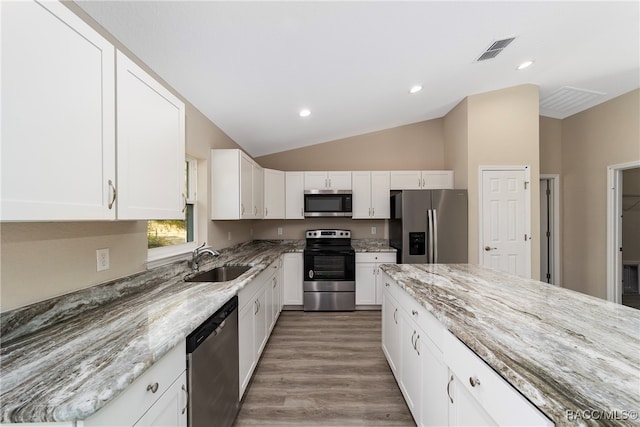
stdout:
<svg viewBox="0 0 640 427">
<path fill-rule="evenodd" d="M 444 168 L 442 119 L 427 120 L 256 158 L 265 168 L 426 170 Z"/>
</svg>

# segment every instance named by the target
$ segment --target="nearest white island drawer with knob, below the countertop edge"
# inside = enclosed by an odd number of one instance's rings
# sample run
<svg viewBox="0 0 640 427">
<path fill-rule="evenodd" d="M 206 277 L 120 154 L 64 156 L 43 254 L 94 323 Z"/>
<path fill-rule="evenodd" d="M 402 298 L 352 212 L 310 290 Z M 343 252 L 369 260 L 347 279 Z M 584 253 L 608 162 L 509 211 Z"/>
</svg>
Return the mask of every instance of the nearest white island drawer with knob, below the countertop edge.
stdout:
<svg viewBox="0 0 640 427">
<path fill-rule="evenodd" d="M 445 335 L 444 355 L 453 374 L 498 425 L 553 425 L 519 391 L 449 332 Z"/>
</svg>

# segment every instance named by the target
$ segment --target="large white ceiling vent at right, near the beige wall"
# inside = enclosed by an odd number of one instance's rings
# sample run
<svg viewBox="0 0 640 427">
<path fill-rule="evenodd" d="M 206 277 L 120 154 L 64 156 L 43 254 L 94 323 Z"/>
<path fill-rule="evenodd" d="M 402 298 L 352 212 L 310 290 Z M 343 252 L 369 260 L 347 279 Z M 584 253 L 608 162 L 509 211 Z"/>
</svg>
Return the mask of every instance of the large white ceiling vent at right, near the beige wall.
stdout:
<svg viewBox="0 0 640 427">
<path fill-rule="evenodd" d="M 540 114 L 564 119 L 602 102 L 605 95 L 595 90 L 563 86 L 550 95 L 540 98 Z"/>
</svg>

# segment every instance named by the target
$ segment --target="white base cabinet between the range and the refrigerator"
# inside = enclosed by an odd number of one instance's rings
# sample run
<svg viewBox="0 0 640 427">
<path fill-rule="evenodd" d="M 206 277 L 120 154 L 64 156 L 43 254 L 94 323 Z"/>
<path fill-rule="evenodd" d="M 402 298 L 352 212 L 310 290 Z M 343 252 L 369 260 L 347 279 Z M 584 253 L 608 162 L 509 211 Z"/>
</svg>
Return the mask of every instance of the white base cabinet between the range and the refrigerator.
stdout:
<svg viewBox="0 0 640 427">
<path fill-rule="evenodd" d="M 381 305 L 380 264 L 395 264 L 395 252 L 356 253 L 356 305 Z"/>
</svg>

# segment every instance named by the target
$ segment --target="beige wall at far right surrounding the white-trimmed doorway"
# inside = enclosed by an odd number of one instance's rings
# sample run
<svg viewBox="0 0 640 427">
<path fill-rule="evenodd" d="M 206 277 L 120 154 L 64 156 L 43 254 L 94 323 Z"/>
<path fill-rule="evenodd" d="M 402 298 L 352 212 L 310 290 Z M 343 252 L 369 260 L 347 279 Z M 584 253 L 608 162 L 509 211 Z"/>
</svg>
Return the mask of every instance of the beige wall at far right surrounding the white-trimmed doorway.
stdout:
<svg viewBox="0 0 640 427">
<path fill-rule="evenodd" d="M 607 166 L 640 160 L 640 90 L 562 121 L 563 286 L 606 298 Z"/>
</svg>

